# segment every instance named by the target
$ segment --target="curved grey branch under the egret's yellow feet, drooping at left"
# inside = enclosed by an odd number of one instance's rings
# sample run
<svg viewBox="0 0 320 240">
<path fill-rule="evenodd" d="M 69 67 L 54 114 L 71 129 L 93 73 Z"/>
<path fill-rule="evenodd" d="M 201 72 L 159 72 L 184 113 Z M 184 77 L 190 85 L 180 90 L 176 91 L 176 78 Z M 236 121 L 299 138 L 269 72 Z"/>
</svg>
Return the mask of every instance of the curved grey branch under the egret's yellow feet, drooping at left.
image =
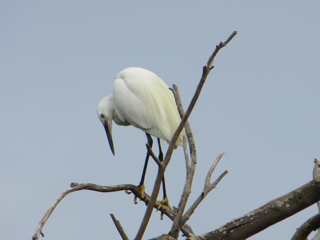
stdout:
<svg viewBox="0 0 320 240">
<path fill-rule="evenodd" d="M 66 191 L 61 193 L 51 204 L 49 209 L 45 212 L 44 216 L 40 220 L 38 226 L 36 227 L 35 233 L 32 236 L 33 240 L 39 239 L 41 230 L 46 223 L 46 221 L 49 219 L 51 216 L 53 210 L 57 207 L 57 205 L 60 203 L 60 201 L 67 196 L 69 193 L 75 192 L 75 191 L 80 191 L 80 190 L 92 190 L 92 191 L 97 191 L 97 192 L 117 192 L 117 191 L 125 191 L 129 190 L 131 191 L 135 196 L 138 196 L 143 202 L 148 204 L 150 202 L 150 196 L 148 194 L 144 194 L 144 197 L 141 198 L 141 190 L 138 188 L 136 185 L 133 184 L 122 184 L 122 185 L 115 185 L 115 186 L 101 186 L 101 185 L 96 185 L 92 183 L 85 183 L 85 184 L 79 184 L 79 183 L 71 183 L 71 188 L 68 188 Z M 160 205 L 160 202 L 156 202 L 154 205 L 154 208 L 157 208 Z M 173 220 L 173 212 L 170 208 L 167 206 L 162 206 L 160 208 L 160 211 L 163 212 L 166 216 L 168 216 L 171 220 Z M 195 236 L 194 232 L 192 231 L 191 227 L 189 225 L 183 226 L 181 228 L 181 232 L 188 236 Z"/>
</svg>

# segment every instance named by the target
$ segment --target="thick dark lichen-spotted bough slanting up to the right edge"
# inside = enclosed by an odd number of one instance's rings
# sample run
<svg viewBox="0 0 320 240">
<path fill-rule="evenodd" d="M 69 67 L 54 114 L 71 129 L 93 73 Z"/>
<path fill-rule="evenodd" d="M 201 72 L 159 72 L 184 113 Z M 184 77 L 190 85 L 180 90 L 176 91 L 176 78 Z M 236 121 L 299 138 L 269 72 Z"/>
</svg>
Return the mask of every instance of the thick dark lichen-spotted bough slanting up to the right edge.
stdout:
<svg viewBox="0 0 320 240">
<path fill-rule="evenodd" d="M 320 200 L 320 177 L 231 222 L 188 240 L 246 239 Z"/>
</svg>

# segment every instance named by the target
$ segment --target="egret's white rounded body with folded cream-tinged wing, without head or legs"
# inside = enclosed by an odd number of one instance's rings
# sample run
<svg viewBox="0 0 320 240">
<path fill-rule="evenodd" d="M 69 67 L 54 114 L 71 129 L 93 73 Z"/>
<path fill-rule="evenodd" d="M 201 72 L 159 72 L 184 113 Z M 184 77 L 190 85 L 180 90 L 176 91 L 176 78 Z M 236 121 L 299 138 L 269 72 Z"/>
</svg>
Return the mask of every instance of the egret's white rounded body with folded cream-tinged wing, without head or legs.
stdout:
<svg viewBox="0 0 320 240">
<path fill-rule="evenodd" d="M 167 141 L 181 121 L 169 87 L 142 68 L 126 68 L 119 73 L 113 101 L 121 120 Z"/>
</svg>

